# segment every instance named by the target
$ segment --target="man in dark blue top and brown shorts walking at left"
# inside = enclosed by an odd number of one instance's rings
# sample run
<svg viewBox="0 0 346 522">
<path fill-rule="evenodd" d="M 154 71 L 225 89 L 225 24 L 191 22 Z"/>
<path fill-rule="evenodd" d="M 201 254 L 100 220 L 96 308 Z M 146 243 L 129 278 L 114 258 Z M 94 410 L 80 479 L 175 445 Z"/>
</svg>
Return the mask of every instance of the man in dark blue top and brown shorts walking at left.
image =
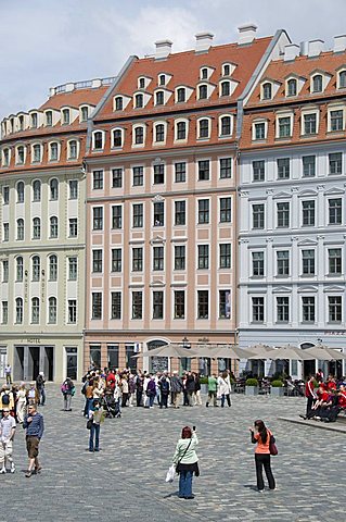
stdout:
<svg viewBox="0 0 346 522">
<path fill-rule="evenodd" d="M 38 461 L 38 447 L 44 431 L 43 415 L 38 413 L 35 405 L 29 405 L 23 427 L 26 430 L 26 449 L 29 457 L 29 465 L 25 476 L 29 477 L 34 473 L 34 467 L 35 473 L 41 471 L 41 465 Z"/>
</svg>

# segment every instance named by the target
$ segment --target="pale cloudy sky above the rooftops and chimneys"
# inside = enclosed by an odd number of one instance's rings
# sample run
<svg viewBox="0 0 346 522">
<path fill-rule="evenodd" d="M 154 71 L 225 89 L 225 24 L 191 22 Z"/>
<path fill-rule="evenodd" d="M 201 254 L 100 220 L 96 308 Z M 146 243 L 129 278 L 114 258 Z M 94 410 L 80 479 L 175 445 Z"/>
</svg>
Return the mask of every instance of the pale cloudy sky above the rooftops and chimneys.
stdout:
<svg viewBox="0 0 346 522">
<path fill-rule="evenodd" d="M 346 33 L 346 0 L 0 0 L 0 120 L 39 107 L 49 87 L 114 76 L 129 54 L 194 47 L 201 30 L 215 44 L 236 41 L 236 27 L 258 36 L 285 28 L 294 42 Z"/>
</svg>

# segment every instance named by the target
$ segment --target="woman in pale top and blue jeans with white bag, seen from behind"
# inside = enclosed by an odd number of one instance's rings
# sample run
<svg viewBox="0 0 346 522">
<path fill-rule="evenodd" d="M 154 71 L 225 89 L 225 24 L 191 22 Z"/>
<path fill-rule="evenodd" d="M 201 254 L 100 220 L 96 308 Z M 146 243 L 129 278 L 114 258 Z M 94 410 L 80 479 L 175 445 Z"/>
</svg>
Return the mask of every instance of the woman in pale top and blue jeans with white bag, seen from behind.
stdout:
<svg viewBox="0 0 346 522">
<path fill-rule="evenodd" d="M 179 474 L 179 498 L 194 498 L 194 495 L 192 495 L 192 477 L 193 473 L 196 476 L 200 475 L 197 444 L 195 426 L 193 426 L 193 430 L 190 426 L 183 427 L 172 457 Z"/>
</svg>

